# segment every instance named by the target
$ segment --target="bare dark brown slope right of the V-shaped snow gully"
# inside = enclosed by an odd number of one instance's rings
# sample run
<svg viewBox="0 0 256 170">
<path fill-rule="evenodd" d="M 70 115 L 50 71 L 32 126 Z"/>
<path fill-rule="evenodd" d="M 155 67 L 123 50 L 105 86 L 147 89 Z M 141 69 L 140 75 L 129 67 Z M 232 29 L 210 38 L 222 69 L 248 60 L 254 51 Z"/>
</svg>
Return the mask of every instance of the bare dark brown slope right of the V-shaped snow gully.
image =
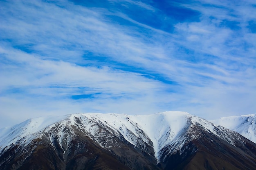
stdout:
<svg viewBox="0 0 256 170">
<path fill-rule="evenodd" d="M 256 144 L 245 137 L 234 145 L 200 126 L 188 128 L 197 139 L 184 144 L 181 153 L 168 155 L 161 166 L 166 170 L 255 170 Z M 235 133 L 232 132 L 231 133 Z M 187 133 L 186 133 L 187 134 Z M 239 134 L 235 133 L 239 137 Z M 181 150 L 182 150 L 181 149 Z"/>
</svg>

